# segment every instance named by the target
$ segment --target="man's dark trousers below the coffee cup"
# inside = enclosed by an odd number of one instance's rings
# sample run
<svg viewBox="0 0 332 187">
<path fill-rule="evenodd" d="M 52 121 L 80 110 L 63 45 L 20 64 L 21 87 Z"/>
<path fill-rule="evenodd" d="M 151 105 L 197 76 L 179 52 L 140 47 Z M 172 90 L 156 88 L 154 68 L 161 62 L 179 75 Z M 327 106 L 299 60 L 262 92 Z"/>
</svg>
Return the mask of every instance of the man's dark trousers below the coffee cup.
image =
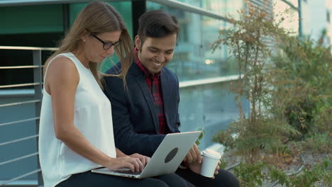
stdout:
<svg viewBox="0 0 332 187">
<path fill-rule="evenodd" d="M 182 176 L 190 183 L 197 187 L 239 187 L 240 184 L 236 176 L 231 174 L 229 171 L 220 169 L 219 174 L 216 175 L 215 179 L 211 179 L 199 174 L 195 174 L 190 169 L 177 169 L 176 174 Z"/>
</svg>

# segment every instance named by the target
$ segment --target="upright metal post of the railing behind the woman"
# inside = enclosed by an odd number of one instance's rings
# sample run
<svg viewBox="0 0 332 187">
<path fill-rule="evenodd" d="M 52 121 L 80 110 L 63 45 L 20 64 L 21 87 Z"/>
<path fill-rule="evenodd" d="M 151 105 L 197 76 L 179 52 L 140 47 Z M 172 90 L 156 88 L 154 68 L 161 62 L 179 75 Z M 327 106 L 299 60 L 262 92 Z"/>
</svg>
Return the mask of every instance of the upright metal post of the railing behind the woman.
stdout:
<svg viewBox="0 0 332 187">
<path fill-rule="evenodd" d="M 34 86 L 35 89 L 35 99 L 42 99 L 42 88 L 43 88 L 43 68 L 41 63 L 41 50 L 33 50 L 33 65 L 38 66 L 33 69 L 33 79 L 34 82 L 39 82 L 40 84 L 37 84 Z M 40 108 L 41 108 L 41 102 L 35 103 L 35 116 L 40 115 Z M 38 135 L 39 134 L 39 119 L 35 120 L 35 132 Z M 38 140 L 39 137 L 36 138 L 36 145 L 37 145 L 37 152 L 39 152 L 38 149 Z M 39 154 L 37 155 L 37 169 L 40 169 L 40 163 L 39 163 Z M 43 176 L 41 171 L 38 172 L 38 186 L 43 186 Z"/>
</svg>

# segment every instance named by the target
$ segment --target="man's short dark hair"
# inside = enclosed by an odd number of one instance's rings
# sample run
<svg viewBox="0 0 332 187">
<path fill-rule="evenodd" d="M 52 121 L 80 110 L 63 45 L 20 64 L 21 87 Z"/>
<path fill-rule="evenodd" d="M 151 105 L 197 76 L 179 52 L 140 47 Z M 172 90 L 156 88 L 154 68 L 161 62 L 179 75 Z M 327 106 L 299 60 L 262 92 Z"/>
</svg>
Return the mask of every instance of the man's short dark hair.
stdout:
<svg viewBox="0 0 332 187">
<path fill-rule="evenodd" d="M 167 35 L 177 34 L 179 31 L 177 18 L 162 10 L 143 13 L 138 19 L 138 24 L 140 45 L 143 45 L 146 37 L 162 38 Z"/>
</svg>

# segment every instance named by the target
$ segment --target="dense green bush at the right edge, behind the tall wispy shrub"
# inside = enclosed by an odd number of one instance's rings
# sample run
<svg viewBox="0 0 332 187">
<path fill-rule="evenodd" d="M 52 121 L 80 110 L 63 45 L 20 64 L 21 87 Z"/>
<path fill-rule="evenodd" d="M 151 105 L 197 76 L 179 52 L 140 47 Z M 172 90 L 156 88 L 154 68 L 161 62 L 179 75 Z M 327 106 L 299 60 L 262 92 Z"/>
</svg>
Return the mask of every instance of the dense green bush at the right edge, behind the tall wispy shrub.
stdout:
<svg viewBox="0 0 332 187">
<path fill-rule="evenodd" d="M 331 116 L 332 107 L 332 55 L 331 46 L 321 45 L 325 38 L 325 31 L 319 42 L 287 37 L 279 45 L 279 55 L 272 58 L 275 68 L 284 72 L 279 77 L 281 96 L 289 92 L 287 100 L 280 99 L 280 115 L 303 136 L 331 130 L 331 117 L 326 115 Z"/>
</svg>

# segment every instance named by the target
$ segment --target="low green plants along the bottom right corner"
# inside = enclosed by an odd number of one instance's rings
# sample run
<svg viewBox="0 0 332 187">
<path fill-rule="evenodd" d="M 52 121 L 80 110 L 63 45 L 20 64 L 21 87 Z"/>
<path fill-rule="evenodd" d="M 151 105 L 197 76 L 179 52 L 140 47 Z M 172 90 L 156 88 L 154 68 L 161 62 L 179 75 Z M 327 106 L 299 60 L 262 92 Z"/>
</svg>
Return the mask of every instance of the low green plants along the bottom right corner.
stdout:
<svg viewBox="0 0 332 187">
<path fill-rule="evenodd" d="M 314 187 L 318 183 L 326 186 L 332 185 L 332 162 L 325 158 L 320 164 L 312 168 L 302 169 L 299 174 L 286 174 L 275 166 L 258 162 L 247 164 L 241 162 L 234 168 L 234 174 L 240 181 L 240 186 L 262 186 L 264 183 L 277 181 L 280 185 L 287 187 Z"/>
</svg>

